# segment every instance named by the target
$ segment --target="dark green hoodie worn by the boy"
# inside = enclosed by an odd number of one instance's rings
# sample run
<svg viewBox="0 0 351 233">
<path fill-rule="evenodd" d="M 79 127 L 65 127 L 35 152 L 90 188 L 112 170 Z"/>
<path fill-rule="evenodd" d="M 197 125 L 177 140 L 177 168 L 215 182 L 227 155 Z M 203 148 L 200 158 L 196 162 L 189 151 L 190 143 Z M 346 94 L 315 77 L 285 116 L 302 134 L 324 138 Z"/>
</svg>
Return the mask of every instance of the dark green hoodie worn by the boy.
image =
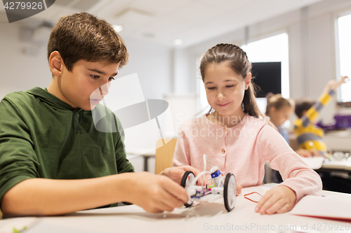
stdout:
<svg viewBox="0 0 351 233">
<path fill-rule="evenodd" d="M 46 89 L 7 94 L 0 102 L 0 206 L 5 193 L 28 178 L 82 179 L 133 172 L 118 118 L 100 104 L 93 113 L 110 113 L 110 120 L 98 122 L 106 132 L 95 129 L 91 111 L 74 109 Z"/>
</svg>

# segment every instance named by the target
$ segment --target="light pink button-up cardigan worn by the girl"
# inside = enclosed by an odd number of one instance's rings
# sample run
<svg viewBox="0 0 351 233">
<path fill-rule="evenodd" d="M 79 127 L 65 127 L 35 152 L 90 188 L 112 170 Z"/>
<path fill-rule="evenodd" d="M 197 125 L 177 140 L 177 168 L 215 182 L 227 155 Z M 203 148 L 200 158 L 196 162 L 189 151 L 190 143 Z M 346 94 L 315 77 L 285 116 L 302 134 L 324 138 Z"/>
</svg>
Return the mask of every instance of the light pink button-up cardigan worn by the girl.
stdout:
<svg viewBox="0 0 351 233">
<path fill-rule="evenodd" d="M 319 175 L 307 167 L 276 129 L 262 119 L 245 115 L 234 127 L 225 128 L 201 118 L 185 122 L 180 127 L 173 167 L 191 165 L 204 170 L 203 155 L 224 174 L 234 174 L 243 187 L 260 185 L 265 175 L 264 165 L 278 170 L 286 185 L 296 192 L 298 202 L 305 195 L 322 196 Z M 207 171 L 210 169 L 207 162 Z"/>
</svg>

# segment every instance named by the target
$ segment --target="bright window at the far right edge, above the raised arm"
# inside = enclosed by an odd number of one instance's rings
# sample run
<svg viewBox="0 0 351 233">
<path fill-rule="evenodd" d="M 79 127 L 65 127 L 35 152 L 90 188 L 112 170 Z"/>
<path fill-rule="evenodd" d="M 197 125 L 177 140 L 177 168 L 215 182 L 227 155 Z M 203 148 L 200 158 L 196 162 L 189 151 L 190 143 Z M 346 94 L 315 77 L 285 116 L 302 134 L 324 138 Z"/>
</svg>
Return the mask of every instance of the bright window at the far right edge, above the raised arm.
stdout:
<svg viewBox="0 0 351 233">
<path fill-rule="evenodd" d="M 337 77 L 349 76 L 351 78 L 351 15 L 338 18 L 338 68 Z M 339 102 L 351 101 L 350 82 L 340 86 L 338 90 Z M 348 90 L 348 91 L 347 91 Z"/>
</svg>

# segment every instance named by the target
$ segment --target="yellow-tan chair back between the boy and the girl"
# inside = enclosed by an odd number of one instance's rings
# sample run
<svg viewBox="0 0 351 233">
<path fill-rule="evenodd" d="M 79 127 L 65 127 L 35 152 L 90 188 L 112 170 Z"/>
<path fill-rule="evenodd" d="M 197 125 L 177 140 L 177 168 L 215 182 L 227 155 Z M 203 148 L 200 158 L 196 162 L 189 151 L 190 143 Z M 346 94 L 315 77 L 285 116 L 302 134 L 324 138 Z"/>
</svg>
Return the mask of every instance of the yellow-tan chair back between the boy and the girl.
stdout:
<svg viewBox="0 0 351 233">
<path fill-rule="evenodd" d="M 157 140 L 154 174 L 159 174 L 168 167 L 172 167 L 174 150 L 177 139 L 159 139 Z"/>
</svg>

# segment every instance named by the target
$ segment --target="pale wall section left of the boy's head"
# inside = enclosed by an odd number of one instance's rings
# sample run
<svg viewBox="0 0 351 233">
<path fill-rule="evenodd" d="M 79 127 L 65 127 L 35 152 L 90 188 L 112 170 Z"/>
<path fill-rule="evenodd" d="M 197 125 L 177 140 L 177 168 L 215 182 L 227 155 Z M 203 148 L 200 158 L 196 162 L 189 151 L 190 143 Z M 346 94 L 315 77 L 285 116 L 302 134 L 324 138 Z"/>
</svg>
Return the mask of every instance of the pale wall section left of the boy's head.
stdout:
<svg viewBox="0 0 351 233">
<path fill-rule="evenodd" d="M 0 99 L 15 91 L 32 87 L 47 87 L 51 71 L 46 60 L 46 45 L 37 48 L 38 55 L 26 55 L 25 48 L 35 48 L 31 43 L 20 41 L 23 24 L 0 23 Z"/>
</svg>

